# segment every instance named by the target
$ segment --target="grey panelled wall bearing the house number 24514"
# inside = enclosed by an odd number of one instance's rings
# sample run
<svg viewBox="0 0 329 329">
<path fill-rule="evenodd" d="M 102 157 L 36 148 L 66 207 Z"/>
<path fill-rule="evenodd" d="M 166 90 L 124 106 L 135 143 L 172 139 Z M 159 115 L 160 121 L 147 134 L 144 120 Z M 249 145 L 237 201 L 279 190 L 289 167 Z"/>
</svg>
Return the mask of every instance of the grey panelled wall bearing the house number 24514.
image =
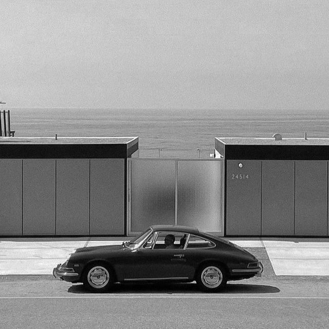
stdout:
<svg viewBox="0 0 329 329">
<path fill-rule="evenodd" d="M 328 162 L 227 160 L 226 235 L 328 235 Z"/>
</svg>

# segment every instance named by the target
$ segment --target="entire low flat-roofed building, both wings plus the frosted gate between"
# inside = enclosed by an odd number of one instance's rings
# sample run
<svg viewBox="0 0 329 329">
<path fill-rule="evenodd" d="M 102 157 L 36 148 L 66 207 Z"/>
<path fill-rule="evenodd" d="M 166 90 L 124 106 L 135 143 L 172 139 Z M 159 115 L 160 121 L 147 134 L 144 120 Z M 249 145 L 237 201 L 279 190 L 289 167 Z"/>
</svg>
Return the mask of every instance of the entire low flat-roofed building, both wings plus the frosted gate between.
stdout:
<svg viewBox="0 0 329 329">
<path fill-rule="evenodd" d="M 328 236 L 329 139 L 215 138 L 215 157 L 139 158 L 138 137 L 0 137 L 0 236 Z"/>
</svg>

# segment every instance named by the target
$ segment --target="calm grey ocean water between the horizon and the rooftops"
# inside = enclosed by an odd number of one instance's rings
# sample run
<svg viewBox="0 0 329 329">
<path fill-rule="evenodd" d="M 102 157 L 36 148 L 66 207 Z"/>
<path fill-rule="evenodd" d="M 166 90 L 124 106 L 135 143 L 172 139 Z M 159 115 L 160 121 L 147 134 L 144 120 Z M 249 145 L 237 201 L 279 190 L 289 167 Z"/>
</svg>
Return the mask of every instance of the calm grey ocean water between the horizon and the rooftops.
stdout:
<svg viewBox="0 0 329 329">
<path fill-rule="evenodd" d="M 329 137 L 329 112 L 12 108 L 15 136 L 138 136 L 140 157 L 209 158 L 215 137 Z M 198 151 L 199 149 L 200 151 Z"/>
</svg>

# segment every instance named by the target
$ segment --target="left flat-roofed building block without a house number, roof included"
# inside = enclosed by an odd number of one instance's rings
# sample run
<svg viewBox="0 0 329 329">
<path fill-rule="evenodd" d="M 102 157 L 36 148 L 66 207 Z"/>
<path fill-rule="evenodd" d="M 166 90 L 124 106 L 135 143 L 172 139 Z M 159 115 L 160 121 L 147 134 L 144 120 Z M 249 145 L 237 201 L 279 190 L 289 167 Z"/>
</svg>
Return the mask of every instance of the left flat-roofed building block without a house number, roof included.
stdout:
<svg viewBox="0 0 329 329">
<path fill-rule="evenodd" d="M 0 138 L 0 235 L 125 235 L 138 137 Z"/>
</svg>

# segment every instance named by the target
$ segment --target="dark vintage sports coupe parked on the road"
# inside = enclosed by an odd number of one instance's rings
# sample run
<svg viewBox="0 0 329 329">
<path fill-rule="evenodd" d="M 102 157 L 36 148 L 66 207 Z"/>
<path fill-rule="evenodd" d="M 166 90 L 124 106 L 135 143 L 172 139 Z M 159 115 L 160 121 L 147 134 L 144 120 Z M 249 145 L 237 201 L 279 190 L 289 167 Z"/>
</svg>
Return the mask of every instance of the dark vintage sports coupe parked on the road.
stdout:
<svg viewBox="0 0 329 329">
<path fill-rule="evenodd" d="M 228 280 L 260 276 L 263 265 L 243 248 L 186 226 L 154 225 L 122 245 L 79 248 L 53 276 L 104 291 L 116 282 L 196 281 L 215 291 Z"/>
</svg>

